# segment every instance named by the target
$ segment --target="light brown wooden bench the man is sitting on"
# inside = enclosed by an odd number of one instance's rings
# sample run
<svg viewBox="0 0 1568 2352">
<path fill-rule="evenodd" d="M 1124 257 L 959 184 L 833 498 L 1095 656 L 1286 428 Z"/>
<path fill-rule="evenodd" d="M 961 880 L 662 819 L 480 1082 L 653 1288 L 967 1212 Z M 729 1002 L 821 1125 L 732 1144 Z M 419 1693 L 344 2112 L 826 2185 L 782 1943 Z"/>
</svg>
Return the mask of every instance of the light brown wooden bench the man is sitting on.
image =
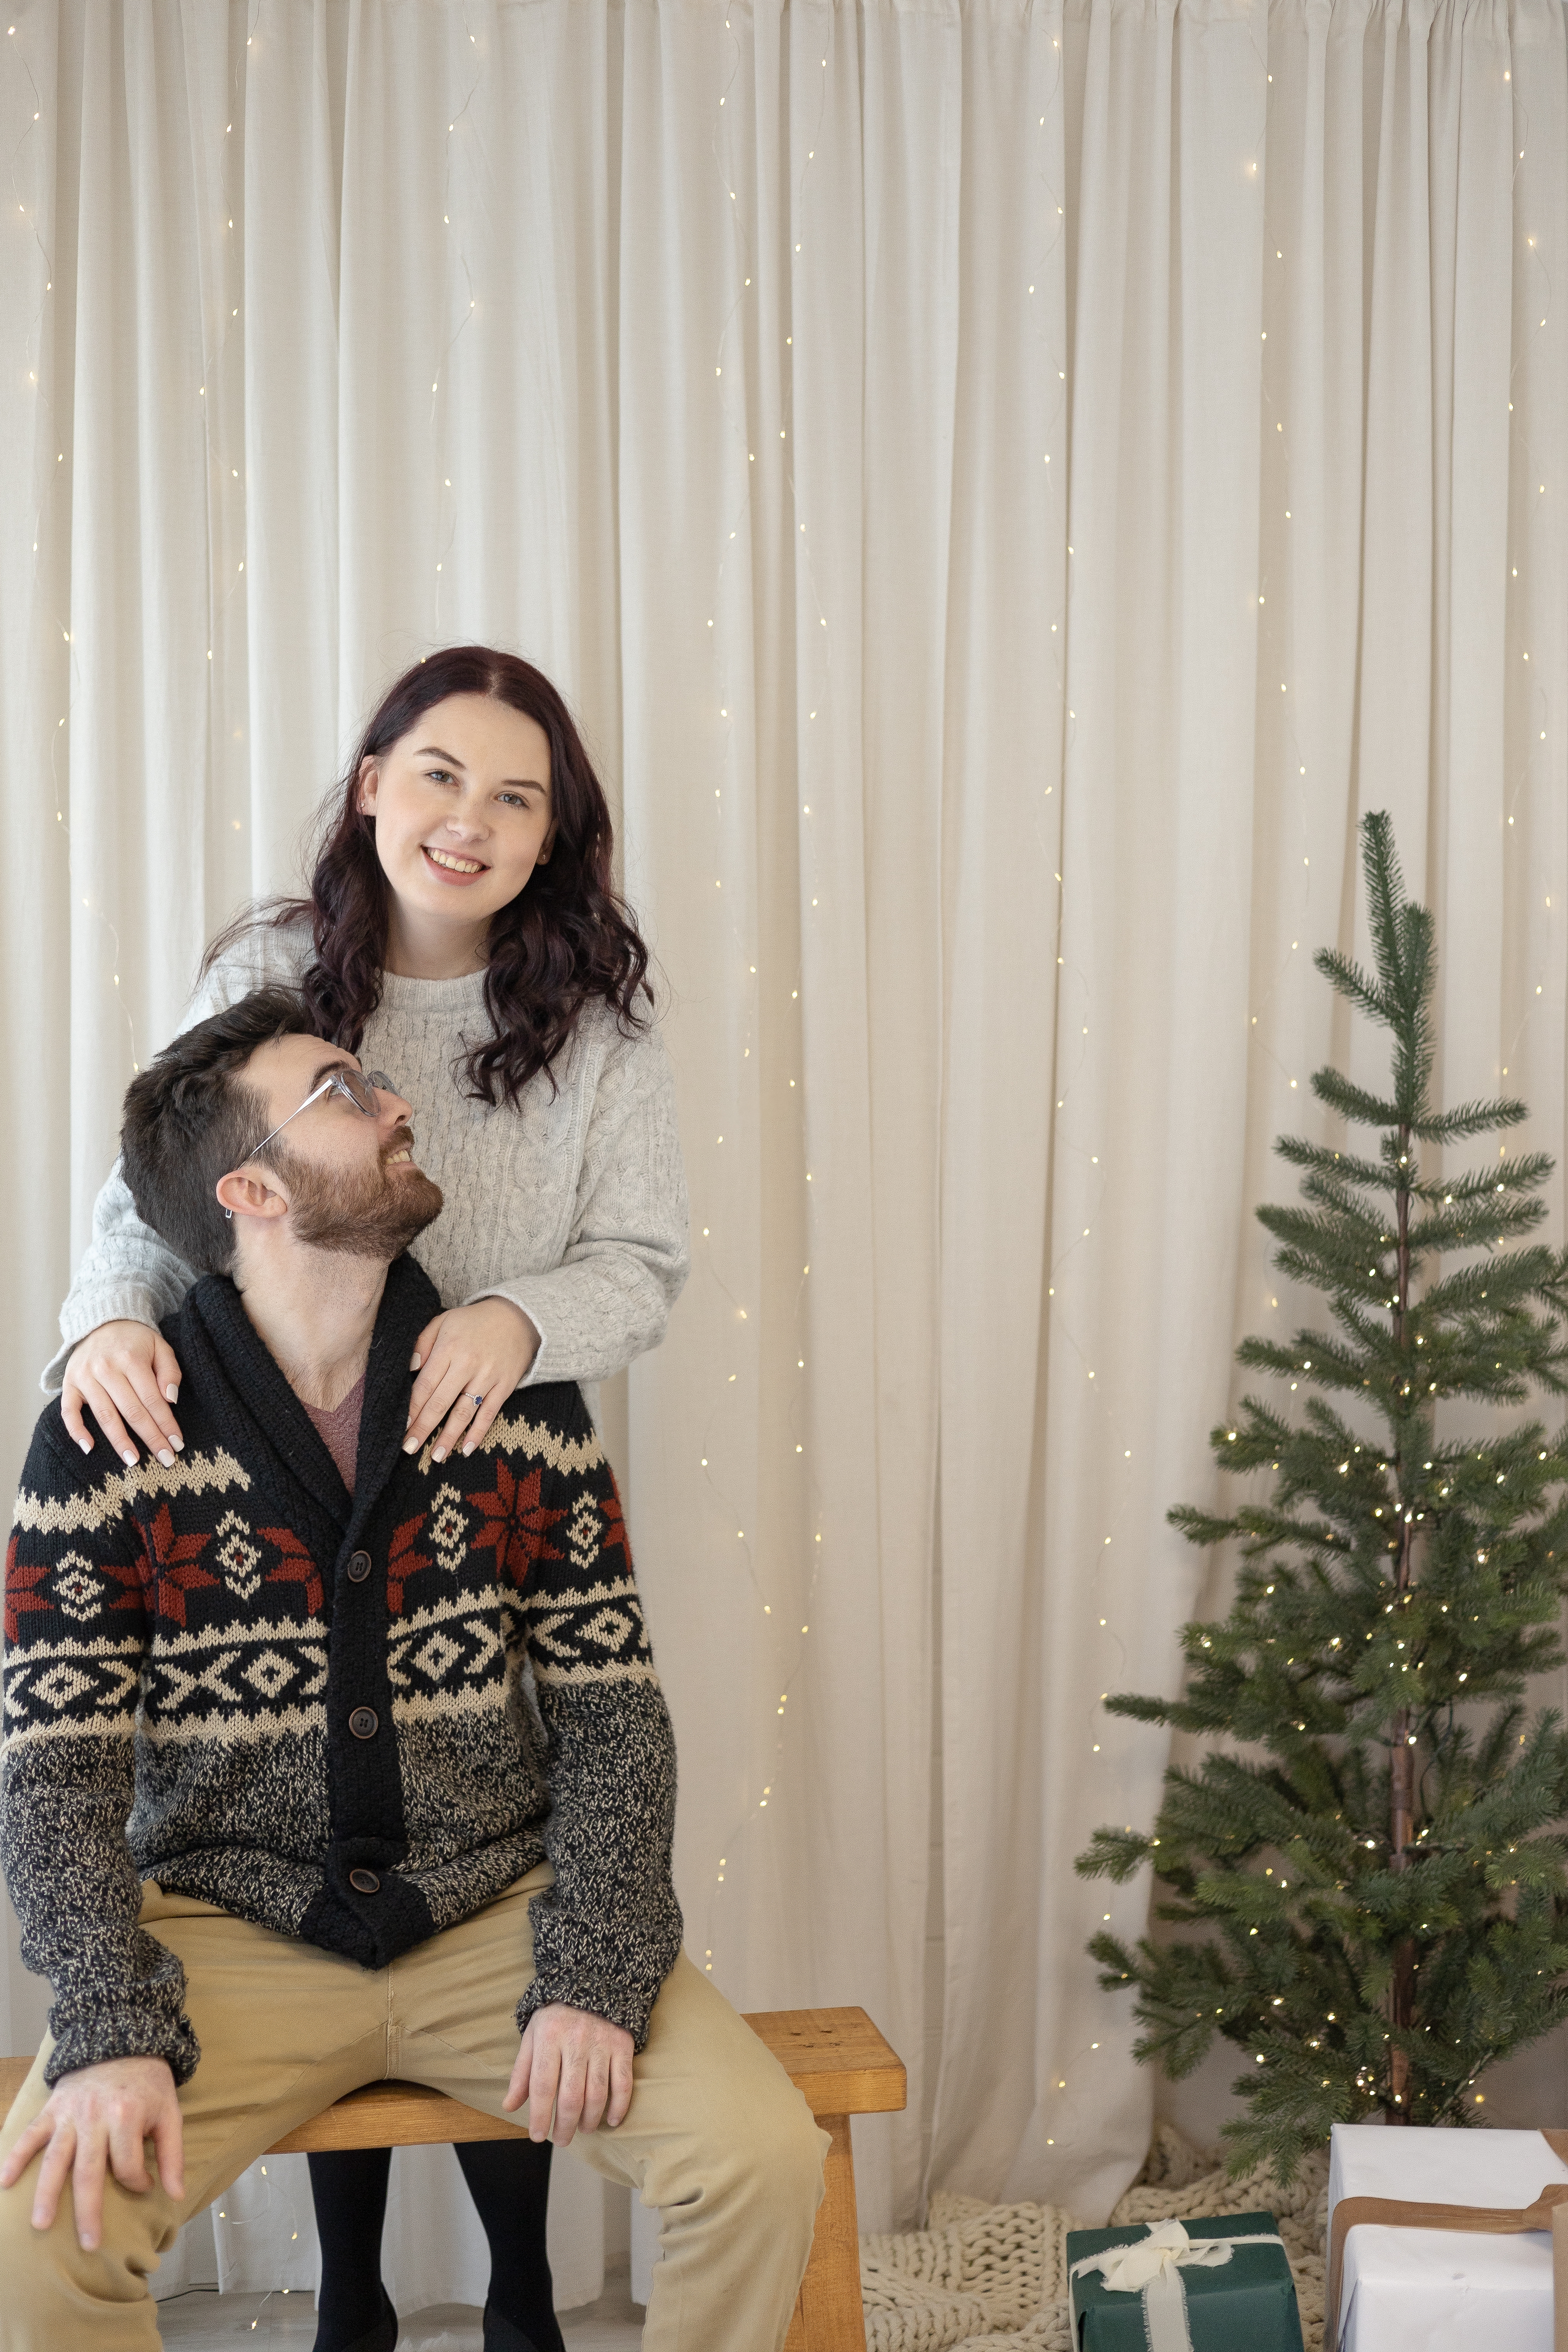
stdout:
<svg viewBox="0 0 1568 2352">
<path fill-rule="evenodd" d="M 785 2352 L 865 2352 L 860 2312 L 860 2230 L 851 2114 L 893 2114 L 905 2103 L 903 2060 L 863 2009 L 769 2009 L 745 2020 L 832 2133 L 827 2187 L 816 2216 Z M 31 2072 L 31 2058 L 0 2058 L 0 2114 Z M 510 2140 L 503 2124 L 416 2082 L 371 2082 L 336 2107 L 289 2131 L 268 2157 L 322 2147 L 430 2147 L 444 2140 Z"/>
</svg>

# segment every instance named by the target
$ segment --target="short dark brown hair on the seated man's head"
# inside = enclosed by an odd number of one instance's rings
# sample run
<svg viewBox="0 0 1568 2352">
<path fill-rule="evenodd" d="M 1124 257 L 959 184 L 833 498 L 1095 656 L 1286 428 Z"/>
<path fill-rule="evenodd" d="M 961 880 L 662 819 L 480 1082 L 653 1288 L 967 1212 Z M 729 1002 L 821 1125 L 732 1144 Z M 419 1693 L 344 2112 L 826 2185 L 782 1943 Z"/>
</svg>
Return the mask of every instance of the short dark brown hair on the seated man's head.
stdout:
<svg viewBox="0 0 1568 2352">
<path fill-rule="evenodd" d="M 254 988 L 167 1044 L 125 1089 L 120 1160 L 136 1216 L 197 1275 L 233 1268 L 235 1228 L 216 1185 L 254 1160 L 268 1131 L 266 1098 L 242 1073 L 277 1037 L 315 1037 L 306 1002 L 292 988 Z"/>
</svg>

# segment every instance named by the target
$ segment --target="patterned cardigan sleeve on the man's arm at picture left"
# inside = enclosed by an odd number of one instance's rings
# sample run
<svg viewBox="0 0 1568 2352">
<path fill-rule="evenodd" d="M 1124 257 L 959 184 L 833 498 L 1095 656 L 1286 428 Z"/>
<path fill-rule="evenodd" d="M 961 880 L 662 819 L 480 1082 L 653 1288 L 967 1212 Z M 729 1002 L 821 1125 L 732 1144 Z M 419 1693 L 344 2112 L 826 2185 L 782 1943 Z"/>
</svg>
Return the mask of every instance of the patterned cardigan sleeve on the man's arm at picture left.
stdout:
<svg viewBox="0 0 1568 2352">
<path fill-rule="evenodd" d="M 129 1479 L 94 1475 L 49 1428 L 33 1432 L 5 1555 L 0 1867 L 21 1959 L 49 1978 L 59 2082 L 106 2058 L 167 2058 L 186 2082 L 200 2044 L 186 1973 L 136 1924 L 141 1879 L 127 1823 L 136 1698 L 150 1625 Z"/>
</svg>

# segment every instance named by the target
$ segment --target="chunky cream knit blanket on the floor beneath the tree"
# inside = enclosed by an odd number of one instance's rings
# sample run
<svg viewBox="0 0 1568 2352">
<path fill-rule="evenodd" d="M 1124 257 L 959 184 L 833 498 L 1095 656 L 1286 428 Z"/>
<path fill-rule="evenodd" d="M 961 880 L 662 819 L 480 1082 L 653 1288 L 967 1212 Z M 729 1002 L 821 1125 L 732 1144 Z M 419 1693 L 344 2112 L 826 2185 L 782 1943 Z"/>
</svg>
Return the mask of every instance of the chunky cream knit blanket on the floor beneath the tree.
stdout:
<svg viewBox="0 0 1568 2352">
<path fill-rule="evenodd" d="M 1239 2180 L 1171 2124 L 1112 2225 L 1269 2211 L 1286 2244 L 1302 2336 L 1324 2326 L 1328 2152 L 1309 2154 L 1291 2187 L 1267 2164 Z M 1072 2352 L 1067 2230 L 1060 2206 L 992 2206 L 938 2192 L 926 2230 L 860 2239 L 867 2352 Z"/>
</svg>

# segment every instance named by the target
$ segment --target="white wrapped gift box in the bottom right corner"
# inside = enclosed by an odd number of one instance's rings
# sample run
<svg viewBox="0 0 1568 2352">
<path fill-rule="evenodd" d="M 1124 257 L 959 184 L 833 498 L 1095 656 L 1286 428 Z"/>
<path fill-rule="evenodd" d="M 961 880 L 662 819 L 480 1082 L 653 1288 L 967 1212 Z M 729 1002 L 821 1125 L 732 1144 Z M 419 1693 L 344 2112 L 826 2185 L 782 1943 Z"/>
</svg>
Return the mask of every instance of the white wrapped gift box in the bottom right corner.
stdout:
<svg viewBox="0 0 1568 2352">
<path fill-rule="evenodd" d="M 1559 2185 L 1568 2187 L 1568 2164 L 1540 2131 L 1335 2124 L 1328 2241 L 1347 2197 L 1519 2211 Z M 1338 2321 L 1340 2352 L 1554 2352 L 1552 2227 L 1493 2237 L 1356 2223 Z"/>
</svg>

